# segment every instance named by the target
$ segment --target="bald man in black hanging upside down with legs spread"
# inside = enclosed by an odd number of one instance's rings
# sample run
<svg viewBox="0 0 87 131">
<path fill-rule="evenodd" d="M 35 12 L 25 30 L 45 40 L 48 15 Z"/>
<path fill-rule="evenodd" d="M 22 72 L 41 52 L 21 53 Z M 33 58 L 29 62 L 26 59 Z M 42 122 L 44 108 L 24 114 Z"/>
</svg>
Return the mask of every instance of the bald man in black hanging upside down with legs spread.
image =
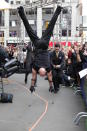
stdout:
<svg viewBox="0 0 87 131">
<path fill-rule="evenodd" d="M 46 29 L 42 37 L 39 38 L 32 30 L 25 16 L 23 7 L 22 6 L 18 7 L 18 13 L 24 23 L 28 36 L 30 37 L 36 49 L 34 64 L 32 68 L 32 82 L 31 82 L 31 87 L 30 87 L 31 92 L 35 91 L 34 84 L 36 81 L 37 73 L 39 73 L 40 76 L 45 76 L 47 74 L 49 85 L 50 85 L 49 91 L 53 90 L 48 45 L 49 45 L 50 37 L 52 35 L 56 20 L 61 10 L 62 10 L 62 7 L 57 6 L 56 11 L 48 25 L 48 28 Z"/>
</svg>

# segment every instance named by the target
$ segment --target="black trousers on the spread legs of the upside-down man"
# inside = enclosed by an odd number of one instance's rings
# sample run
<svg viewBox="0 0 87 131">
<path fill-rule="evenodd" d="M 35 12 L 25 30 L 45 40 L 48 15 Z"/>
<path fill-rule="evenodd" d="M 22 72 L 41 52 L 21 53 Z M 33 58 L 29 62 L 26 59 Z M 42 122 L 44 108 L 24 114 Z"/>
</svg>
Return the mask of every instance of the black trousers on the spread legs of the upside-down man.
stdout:
<svg viewBox="0 0 87 131">
<path fill-rule="evenodd" d="M 19 13 L 19 15 L 20 15 L 20 17 L 21 17 L 21 19 L 22 19 L 22 21 L 24 23 L 24 26 L 25 26 L 26 31 L 28 33 L 28 36 L 30 37 L 30 39 L 31 39 L 32 43 L 34 44 L 35 48 L 38 46 L 38 44 L 39 44 L 38 41 L 39 40 L 42 40 L 42 41 L 45 40 L 46 41 L 45 44 L 47 45 L 47 48 L 48 48 L 49 40 L 50 40 L 51 35 L 53 33 L 53 29 L 54 29 L 55 23 L 57 21 L 57 18 L 59 16 L 60 12 L 61 12 L 61 7 L 57 6 L 57 8 L 56 8 L 56 10 L 55 10 L 55 12 L 53 14 L 53 17 L 50 20 L 48 28 L 45 30 L 45 32 L 42 35 L 42 37 L 39 38 L 35 34 L 34 30 L 31 27 L 31 25 L 29 24 L 28 19 L 27 19 L 26 15 L 25 15 L 23 7 L 19 7 L 18 8 L 18 13 Z M 42 43 L 40 43 L 40 44 L 42 45 Z"/>
</svg>

